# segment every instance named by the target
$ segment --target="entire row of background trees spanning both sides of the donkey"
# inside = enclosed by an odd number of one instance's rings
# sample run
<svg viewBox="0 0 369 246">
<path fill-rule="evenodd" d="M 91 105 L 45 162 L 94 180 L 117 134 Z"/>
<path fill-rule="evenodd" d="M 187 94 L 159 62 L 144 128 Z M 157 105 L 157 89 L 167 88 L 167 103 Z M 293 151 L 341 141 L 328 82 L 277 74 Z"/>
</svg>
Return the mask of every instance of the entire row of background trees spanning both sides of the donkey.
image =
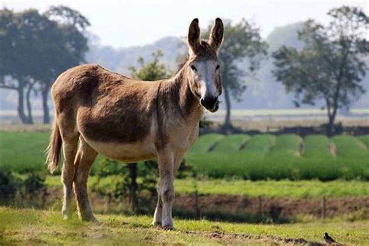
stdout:
<svg viewBox="0 0 369 246">
<path fill-rule="evenodd" d="M 364 92 L 369 21 L 364 11 L 356 7 L 334 8 L 328 15 L 331 22 L 327 26 L 313 20 L 302 24 L 298 31 L 301 48 L 282 46 L 271 58 L 267 54 L 268 45 L 254 23 L 225 20 L 225 39 L 219 51 L 223 64 L 225 131 L 232 130 L 231 98 L 241 100 L 247 81 L 255 76 L 260 62 L 272 59 L 273 75 L 286 92 L 295 94 L 296 106 L 323 102 L 328 131 L 332 133 L 338 109 L 348 108 Z M 42 95 L 44 123 L 49 122 L 50 86 L 60 72 L 85 62 L 88 40 L 84 32 L 89 25 L 79 12 L 64 6 L 51 7 L 43 14 L 37 10 L 20 13 L 1 10 L 0 88 L 18 92 L 22 122 L 32 123 L 29 100 L 32 92 Z M 210 26 L 203 31 L 205 37 L 209 31 Z M 160 57 L 157 53 L 154 62 L 147 66 L 143 59 L 139 60 L 143 69 L 136 71 L 131 67 L 132 76 L 147 80 L 167 77 L 170 73 L 159 63 Z"/>
</svg>

